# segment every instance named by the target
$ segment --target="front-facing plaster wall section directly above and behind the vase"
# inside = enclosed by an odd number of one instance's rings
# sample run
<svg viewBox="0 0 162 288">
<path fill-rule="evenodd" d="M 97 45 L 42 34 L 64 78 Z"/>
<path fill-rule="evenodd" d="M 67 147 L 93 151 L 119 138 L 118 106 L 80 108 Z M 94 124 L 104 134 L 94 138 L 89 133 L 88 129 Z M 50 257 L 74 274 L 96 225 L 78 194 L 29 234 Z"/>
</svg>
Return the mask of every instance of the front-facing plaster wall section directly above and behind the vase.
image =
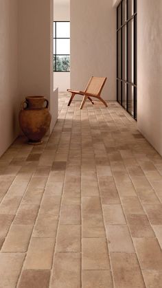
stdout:
<svg viewBox="0 0 162 288">
<path fill-rule="evenodd" d="M 45 96 L 58 113 L 53 87 L 53 0 L 19 0 L 19 95 Z M 52 121 L 53 123 L 53 121 Z M 53 128 L 53 127 L 51 127 Z"/>
</svg>

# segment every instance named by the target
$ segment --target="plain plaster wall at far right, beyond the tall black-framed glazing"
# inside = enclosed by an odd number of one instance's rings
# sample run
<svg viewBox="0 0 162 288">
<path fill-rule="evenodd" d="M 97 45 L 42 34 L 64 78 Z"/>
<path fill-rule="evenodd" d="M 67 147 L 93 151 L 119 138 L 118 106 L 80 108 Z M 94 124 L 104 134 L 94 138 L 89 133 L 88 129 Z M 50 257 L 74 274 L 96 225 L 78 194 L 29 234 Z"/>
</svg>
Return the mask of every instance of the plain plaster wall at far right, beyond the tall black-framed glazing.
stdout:
<svg viewBox="0 0 162 288">
<path fill-rule="evenodd" d="M 162 1 L 138 1 L 139 131 L 162 155 Z"/>
</svg>

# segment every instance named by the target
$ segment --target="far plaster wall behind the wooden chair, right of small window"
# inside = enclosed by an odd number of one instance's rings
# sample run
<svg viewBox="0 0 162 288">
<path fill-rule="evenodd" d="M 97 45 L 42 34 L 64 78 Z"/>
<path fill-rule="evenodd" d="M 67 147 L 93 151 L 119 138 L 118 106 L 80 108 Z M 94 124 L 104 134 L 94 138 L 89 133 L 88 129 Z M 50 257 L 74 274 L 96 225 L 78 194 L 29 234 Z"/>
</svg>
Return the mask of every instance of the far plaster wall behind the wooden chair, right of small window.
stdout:
<svg viewBox="0 0 162 288">
<path fill-rule="evenodd" d="M 116 100 L 116 9 L 112 0 L 71 0 L 71 89 L 106 76 L 106 100 Z"/>
</svg>

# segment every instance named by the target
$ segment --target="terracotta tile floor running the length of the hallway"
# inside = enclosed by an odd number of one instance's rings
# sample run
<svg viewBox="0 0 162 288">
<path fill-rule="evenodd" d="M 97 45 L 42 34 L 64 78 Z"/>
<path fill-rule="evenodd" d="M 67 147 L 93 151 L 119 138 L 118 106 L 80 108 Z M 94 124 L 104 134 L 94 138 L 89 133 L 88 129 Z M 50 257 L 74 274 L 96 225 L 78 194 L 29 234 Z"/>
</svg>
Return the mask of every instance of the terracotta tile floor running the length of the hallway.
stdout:
<svg viewBox="0 0 162 288">
<path fill-rule="evenodd" d="M 162 158 L 116 102 L 0 159 L 1 288 L 161 288 Z"/>
</svg>

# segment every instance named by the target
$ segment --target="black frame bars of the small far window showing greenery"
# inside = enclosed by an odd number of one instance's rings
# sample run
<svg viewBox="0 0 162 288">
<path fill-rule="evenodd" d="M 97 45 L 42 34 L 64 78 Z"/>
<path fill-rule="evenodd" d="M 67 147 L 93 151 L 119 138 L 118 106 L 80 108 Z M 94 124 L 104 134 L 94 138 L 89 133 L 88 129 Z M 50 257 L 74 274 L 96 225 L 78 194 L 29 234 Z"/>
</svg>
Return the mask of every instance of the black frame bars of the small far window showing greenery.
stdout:
<svg viewBox="0 0 162 288">
<path fill-rule="evenodd" d="M 54 73 L 56 72 L 56 73 L 59 73 L 59 72 L 61 72 L 61 73 L 68 73 L 68 72 L 70 72 L 70 65 L 69 65 L 69 70 L 68 71 L 57 71 L 57 63 L 56 63 L 56 57 L 57 56 L 69 56 L 69 61 L 70 61 L 70 54 L 57 54 L 57 47 L 56 47 L 56 40 L 57 39 L 69 39 L 70 40 L 70 37 L 57 37 L 57 29 L 56 29 L 56 23 L 70 23 L 70 21 L 54 21 L 54 23 L 55 23 L 55 25 L 54 25 L 54 30 L 55 30 L 55 33 L 54 33 L 54 35 L 55 35 L 55 37 L 53 37 L 53 39 L 55 39 L 55 54 L 53 54 L 53 59 L 55 58 L 55 60 L 54 60 Z"/>
</svg>

